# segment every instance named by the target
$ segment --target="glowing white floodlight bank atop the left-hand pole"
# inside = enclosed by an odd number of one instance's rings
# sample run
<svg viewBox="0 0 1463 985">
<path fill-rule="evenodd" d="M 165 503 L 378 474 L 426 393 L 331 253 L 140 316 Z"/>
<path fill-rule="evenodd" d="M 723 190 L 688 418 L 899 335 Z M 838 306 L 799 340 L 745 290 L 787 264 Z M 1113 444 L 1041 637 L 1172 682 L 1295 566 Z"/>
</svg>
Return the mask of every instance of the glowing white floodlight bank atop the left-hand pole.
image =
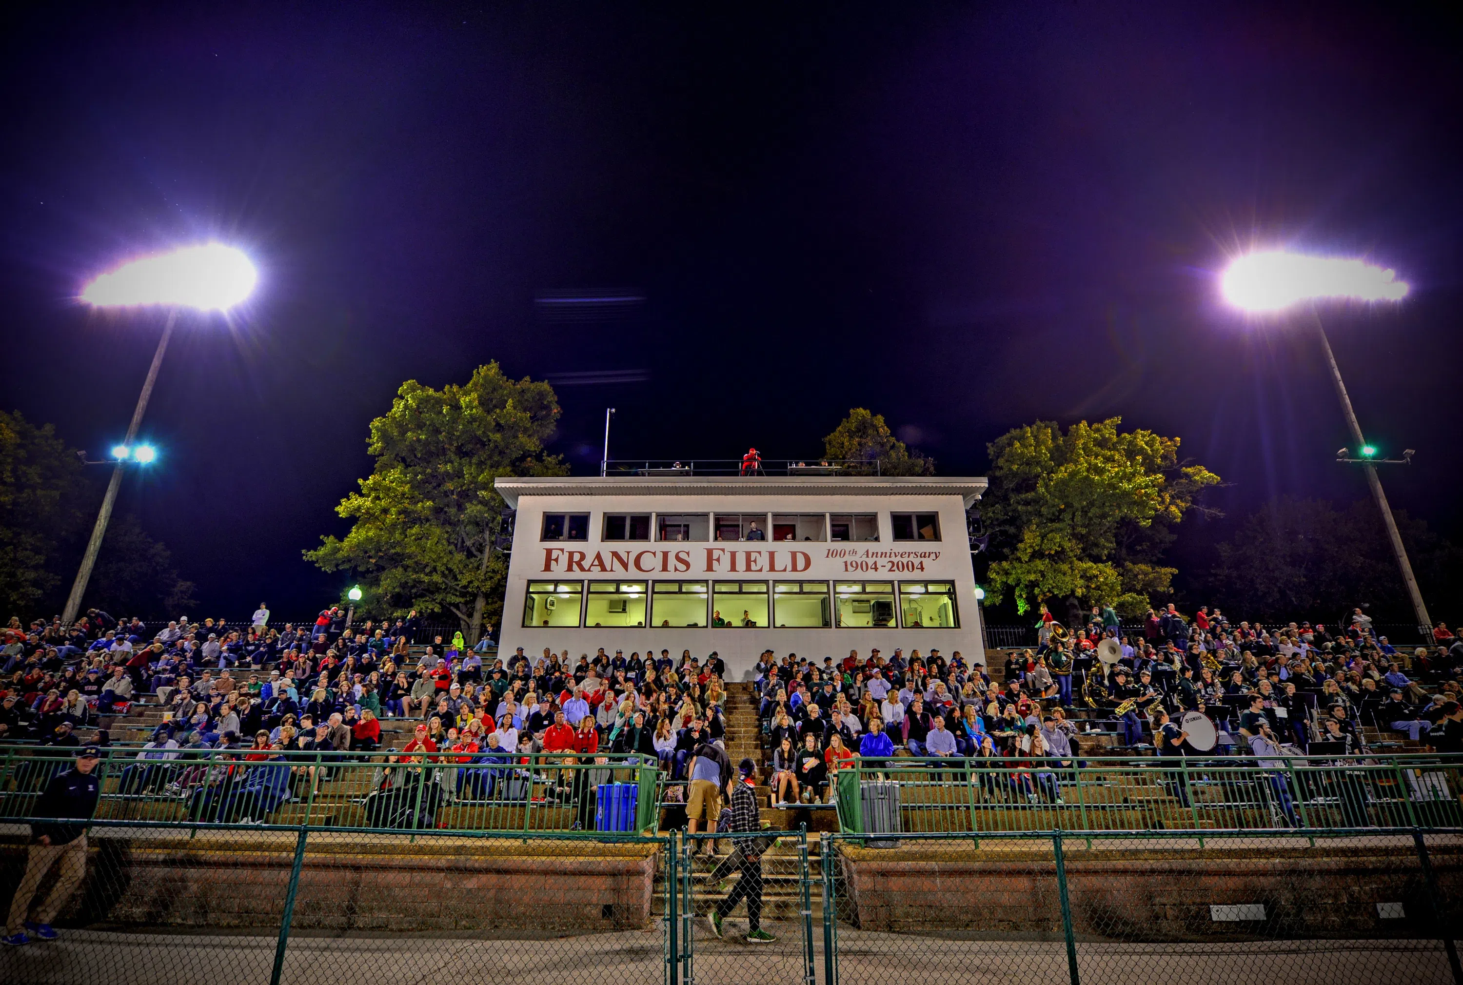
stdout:
<svg viewBox="0 0 1463 985">
<path fill-rule="evenodd" d="M 99 307 L 178 304 L 224 312 L 249 297 L 257 280 L 240 250 L 208 243 L 123 263 L 88 284 L 82 300 Z"/>
</svg>

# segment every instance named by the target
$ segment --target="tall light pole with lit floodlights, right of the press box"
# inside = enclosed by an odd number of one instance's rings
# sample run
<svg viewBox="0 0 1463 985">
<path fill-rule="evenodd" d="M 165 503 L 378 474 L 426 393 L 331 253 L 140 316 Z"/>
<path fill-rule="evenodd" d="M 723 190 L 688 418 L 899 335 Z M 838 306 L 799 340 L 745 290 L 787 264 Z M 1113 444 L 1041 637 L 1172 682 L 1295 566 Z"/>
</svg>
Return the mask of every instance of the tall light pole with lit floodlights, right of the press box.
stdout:
<svg viewBox="0 0 1463 985">
<path fill-rule="evenodd" d="M 1305 304 L 1309 309 L 1315 334 L 1321 338 L 1321 351 L 1325 353 L 1325 363 L 1331 370 L 1336 397 L 1342 401 L 1342 413 L 1346 414 L 1352 441 L 1356 442 L 1356 454 L 1362 460 L 1358 464 L 1366 474 L 1366 484 L 1381 511 L 1387 539 L 1391 542 L 1397 566 L 1402 569 L 1402 580 L 1412 597 L 1418 632 L 1422 634 L 1423 641 L 1431 641 L 1432 619 L 1428 615 L 1426 603 L 1422 602 L 1418 578 L 1412 574 L 1412 562 L 1407 561 L 1407 549 L 1402 543 L 1402 533 L 1391 515 L 1387 493 L 1383 492 L 1377 462 L 1371 461 L 1377 449 L 1362 435 L 1362 426 L 1352 408 L 1352 398 L 1346 394 L 1346 383 L 1342 381 L 1342 369 L 1336 364 L 1336 353 L 1331 351 L 1331 342 L 1325 337 L 1325 326 L 1321 323 L 1321 313 L 1317 309 L 1317 304 L 1327 299 L 1400 302 L 1407 296 L 1407 284 L 1397 280 L 1396 271 L 1359 259 L 1261 250 L 1241 256 L 1229 265 L 1220 278 L 1220 293 L 1226 302 L 1251 315 L 1282 315 L 1296 304 Z"/>
</svg>

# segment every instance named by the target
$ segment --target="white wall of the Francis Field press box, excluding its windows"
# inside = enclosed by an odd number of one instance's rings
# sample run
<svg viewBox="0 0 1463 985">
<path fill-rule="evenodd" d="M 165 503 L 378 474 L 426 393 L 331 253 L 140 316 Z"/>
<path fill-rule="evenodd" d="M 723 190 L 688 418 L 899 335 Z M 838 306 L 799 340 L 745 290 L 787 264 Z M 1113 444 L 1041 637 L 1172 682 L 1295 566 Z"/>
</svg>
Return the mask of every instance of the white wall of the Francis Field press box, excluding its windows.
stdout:
<svg viewBox="0 0 1463 985">
<path fill-rule="evenodd" d="M 560 477 L 499 479 L 496 489 L 518 511 L 508 588 L 503 599 L 499 653 L 516 647 L 531 659 L 544 647 L 571 657 L 604 647 L 644 654 L 654 648 L 673 656 L 691 650 L 705 657 L 715 650 L 732 681 L 749 679 L 762 650 L 778 657 L 841 660 L 850 650 L 868 656 L 878 647 L 888 657 L 895 647 L 928 654 L 938 647 L 947 657 L 960 650 L 967 660 L 985 662 L 980 607 L 966 509 L 985 492 L 985 479 L 935 477 Z M 650 542 L 604 542 L 604 514 L 875 514 L 878 542 L 658 542 L 654 520 Z M 895 542 L 891 512 L 935 512 L 941 539 Z M 585 540 L 541 540 L 544 514 L 590 514 Z M 765 531 L 771 536 L 771 531 Z M 827 527 L 824 536 L 827 537 Z M 920 569 L 923 568 L 923 569 Z M 914 583 L 952 581 L 957 628 L 712 628 L 712 626 L 524 626 L 531 581 L 797 581 Z M 775 604 L 775 602 L 774 602 Z M 837 604 L 837 603 L 834 603 Z M 897 606 L 898 607 L 898 603 Z M 734 613 L 727 613 L 729 618 Z M 652 613 L 651 613 L 652 621 Z"/>
</svg>

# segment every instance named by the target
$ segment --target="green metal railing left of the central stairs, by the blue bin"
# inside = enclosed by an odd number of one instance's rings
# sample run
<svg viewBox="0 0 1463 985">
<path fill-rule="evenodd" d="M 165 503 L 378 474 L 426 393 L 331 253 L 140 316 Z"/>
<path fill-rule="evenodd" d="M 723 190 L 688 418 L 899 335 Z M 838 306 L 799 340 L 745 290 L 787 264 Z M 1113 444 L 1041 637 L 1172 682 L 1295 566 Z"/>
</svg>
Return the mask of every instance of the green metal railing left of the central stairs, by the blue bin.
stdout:
<svg viewBox="0 0 1463 985">
<path fill-rule="evenodd" d="M 73 749 L 10 746 L 0 758 L 0 818 L 20 818 Z M 99 820 L 139 823 L 268 823 L 350 828 L 569 831 L 657 827 L 655 760 L 606 755 L 579 763 L 538 754 L 484 761 L 451 752 L 285 752 L 250 761 L 247 751 L 183 749 L 143 760 L 104 749 L 97 765 Z M 633 811 L 601 818 L 601 787 L 633 790 Z M 609 792 L 609 790 L 607 790 Z"/>
</svg>

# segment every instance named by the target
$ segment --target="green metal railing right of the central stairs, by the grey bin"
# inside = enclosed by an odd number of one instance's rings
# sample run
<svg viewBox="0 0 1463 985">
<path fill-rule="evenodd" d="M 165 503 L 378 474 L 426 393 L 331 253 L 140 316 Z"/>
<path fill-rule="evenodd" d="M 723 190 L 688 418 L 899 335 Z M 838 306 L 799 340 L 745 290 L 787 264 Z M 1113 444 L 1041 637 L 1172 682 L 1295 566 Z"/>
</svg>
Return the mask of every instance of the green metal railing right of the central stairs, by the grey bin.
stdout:
<svg viewBox="0 0 1463 985">
<path fill-rule="evenodd" d="M 1463 825 L 1463 755 L 1015 760 L 900 757 L 840 770 L 843 833 Z M 882 801 L 878 818 L 873 799 Z M 897 804 L 897 808 L 892 806 Z"/>
</svg>

